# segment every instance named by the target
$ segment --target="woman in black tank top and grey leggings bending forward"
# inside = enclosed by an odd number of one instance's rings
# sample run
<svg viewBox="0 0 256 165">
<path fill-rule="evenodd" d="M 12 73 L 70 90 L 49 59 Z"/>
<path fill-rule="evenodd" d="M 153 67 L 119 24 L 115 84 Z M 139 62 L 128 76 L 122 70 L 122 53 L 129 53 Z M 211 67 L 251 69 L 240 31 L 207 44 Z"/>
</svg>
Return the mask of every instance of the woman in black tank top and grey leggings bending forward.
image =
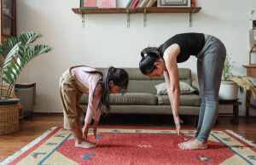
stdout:
<svg viewBox="0 0 256 165">
<path fill-rule="evenodd" d="M 160 77 L 164 74 L 172 114 L 179 134 L 180 90 L 177 63 L 188 60 L 190 55 L 195 55 L 197 58 L 201 108 L 195 139 L 178 146 L 183 150 L 207 149 L 207 139 L 218 116 L 218 90 L 226 56 L 224 44 L 218 38 L 202 33 L 177 34 L 159 48 L 143 49 L 139 67 L 148 77 Z"/>
</svg>

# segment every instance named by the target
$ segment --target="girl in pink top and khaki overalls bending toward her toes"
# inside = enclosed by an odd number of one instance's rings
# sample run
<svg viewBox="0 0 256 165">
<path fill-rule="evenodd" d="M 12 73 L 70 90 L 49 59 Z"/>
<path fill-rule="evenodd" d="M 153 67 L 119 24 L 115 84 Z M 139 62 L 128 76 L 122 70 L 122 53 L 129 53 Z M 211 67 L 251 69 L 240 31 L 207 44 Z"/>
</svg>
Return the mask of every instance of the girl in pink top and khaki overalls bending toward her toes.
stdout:
<svg viewBox="0 0 256 165">
<path fill-rule="evenodd" d="M 94 120 L 94 135 L 102 111 L 109 111 L 109 93 L 119 93 L 128 85 L 128 73 L 119 68 L 109 67 L 103 75 L 89 66 L 73 66 L 65 71 L 60 80 L 61 101 L 64 117 L 75 138 L 75 146 L 82 148 L 95 147 L 96 144 L 87 140 L 91 119 Z M 89 94 L 88 107 L 84 118 L 84 128 L 80 122 L 83 110 L 79 107 L 82 94 Z"/>
</svg>

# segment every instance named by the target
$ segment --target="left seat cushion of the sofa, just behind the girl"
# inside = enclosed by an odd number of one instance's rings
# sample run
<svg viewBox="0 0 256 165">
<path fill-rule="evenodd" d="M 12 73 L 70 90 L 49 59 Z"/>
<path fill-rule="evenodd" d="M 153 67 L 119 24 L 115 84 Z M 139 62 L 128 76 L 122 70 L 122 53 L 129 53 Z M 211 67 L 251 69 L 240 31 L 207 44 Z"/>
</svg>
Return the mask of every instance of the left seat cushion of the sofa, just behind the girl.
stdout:
<svg viewBox="0 0 256 165">
<path fill-rule="evenodd" d="M 113 105 L 157 105 L 157 97 L 148 93 L 110 94 L 110 104 Z M 80 104 L 88 104 L 88 94 L 84 94 Z"/>
</svg>

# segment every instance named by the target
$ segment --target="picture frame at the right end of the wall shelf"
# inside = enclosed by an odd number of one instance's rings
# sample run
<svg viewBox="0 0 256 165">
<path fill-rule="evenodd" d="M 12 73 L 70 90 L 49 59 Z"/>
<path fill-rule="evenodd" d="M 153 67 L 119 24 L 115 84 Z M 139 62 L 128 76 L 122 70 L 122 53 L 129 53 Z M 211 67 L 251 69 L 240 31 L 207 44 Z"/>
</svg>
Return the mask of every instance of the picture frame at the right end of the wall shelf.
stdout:
<svg viewBox="0 0 256 165">
<path fill-rule="evenodd" d="M 157 7 L 191 7 L 190 0 L 157 0 Z"/>
</svg>

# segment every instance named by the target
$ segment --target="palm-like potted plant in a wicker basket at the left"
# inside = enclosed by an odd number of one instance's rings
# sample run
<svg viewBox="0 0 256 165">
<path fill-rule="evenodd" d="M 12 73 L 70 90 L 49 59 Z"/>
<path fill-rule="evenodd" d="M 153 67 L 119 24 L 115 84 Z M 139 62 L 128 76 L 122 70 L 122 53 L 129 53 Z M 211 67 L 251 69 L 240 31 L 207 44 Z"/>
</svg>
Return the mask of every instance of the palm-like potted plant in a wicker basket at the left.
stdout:
<svg viewBox="0 0 256 165">
<path fill-rule="evenodd" d="M 48 45 L 36 44 L 41 34 L 25 32 L 18 37 L 9 37 L 0 45 L 0 134 L 19 130 L 19 99 L 15 98 L 14 87 L 24 66 L 38 54 L 50 51 Z"/>
</svg>

